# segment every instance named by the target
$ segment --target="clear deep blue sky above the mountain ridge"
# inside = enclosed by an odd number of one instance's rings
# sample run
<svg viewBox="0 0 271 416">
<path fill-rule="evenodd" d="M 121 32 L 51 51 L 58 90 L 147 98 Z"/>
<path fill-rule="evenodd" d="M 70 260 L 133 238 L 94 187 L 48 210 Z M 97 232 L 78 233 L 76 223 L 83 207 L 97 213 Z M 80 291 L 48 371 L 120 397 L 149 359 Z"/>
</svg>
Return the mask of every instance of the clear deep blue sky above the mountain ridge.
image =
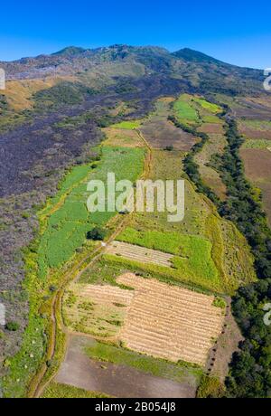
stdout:
<svg viewBox="0 0 271 416">
<path fill-rule="evenodd" d="M 62 0 L 1 4 L 0 60 L 68 45 L 189 47 L 241 66 L 271 67 L 271 4 L 198 0 Z"/>
</svg>

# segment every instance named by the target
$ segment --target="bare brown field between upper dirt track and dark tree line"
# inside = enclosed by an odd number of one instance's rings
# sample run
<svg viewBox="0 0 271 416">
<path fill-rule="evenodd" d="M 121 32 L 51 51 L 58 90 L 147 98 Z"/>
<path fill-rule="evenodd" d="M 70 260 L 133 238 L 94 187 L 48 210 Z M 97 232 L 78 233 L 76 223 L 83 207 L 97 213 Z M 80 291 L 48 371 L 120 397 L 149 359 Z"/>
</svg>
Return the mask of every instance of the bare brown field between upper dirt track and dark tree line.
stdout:
<svg viewBox="0 0 271 416">
<path fill-rule="evenodd" d="M 140 130 L 154 148 L 173 146 L 175 149 L 187 151 L 198 141 L 192 134 L 184 132 L 181 128 L 176 128 L 167 119 L 151 118 Z"/>
</svg>

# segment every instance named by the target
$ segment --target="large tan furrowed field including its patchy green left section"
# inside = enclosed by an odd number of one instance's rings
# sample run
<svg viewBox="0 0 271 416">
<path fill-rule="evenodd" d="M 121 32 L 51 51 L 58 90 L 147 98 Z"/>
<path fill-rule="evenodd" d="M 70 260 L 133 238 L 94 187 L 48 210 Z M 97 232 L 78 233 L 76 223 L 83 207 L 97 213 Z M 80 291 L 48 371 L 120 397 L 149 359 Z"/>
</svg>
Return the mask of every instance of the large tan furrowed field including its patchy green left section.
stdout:
<svg viewBox="0 0 271 416">
<path fill-rule="evenodd" d="M 73 331 L 119 341 L 131 350 L 173 362 L 206 363 L 223 322 L 223 309 L 213 305 L 214 297 L 133 273 L 118 276 L 116 282 L 134 290 L 70 287 L 63 308 Z"/>
</svg>

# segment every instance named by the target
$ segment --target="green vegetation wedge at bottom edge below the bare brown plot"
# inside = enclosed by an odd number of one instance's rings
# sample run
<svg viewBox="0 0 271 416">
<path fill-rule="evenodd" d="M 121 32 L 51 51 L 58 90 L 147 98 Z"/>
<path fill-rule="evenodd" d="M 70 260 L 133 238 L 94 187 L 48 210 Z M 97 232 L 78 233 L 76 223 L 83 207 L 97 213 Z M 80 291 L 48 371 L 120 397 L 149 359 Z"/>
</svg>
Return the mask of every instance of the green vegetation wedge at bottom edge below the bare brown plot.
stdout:
<svg viewBox="0 0 271 416">
<path fill-rule="evenodd" d="M 107 394 L 101 392 L 88 392 L 77 387 L 51 382 L 42 394 L 44 399 L 102 399 L 107 398 Z"/>
</svg>

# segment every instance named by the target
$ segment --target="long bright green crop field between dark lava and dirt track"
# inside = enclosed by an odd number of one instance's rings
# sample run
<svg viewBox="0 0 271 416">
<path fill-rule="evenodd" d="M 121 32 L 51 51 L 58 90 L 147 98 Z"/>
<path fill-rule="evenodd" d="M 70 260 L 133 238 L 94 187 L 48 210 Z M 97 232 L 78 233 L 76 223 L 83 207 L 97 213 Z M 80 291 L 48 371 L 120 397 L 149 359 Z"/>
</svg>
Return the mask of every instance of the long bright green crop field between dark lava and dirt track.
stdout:
<svg viewBox="0 0 271 416">
<path fill-rule="evenodd" d="M 130 147 L 102 147 L 101 161 L 96 169 L 88 166 L 71 171 L 63 182 L 60 194 L 65 194 L 72 185 L 61 206 L 51 213 L 39 247 L 39 269 L 41 277 L 48 268 L 57 268 L 69 260 L 86 238 L 86 232 L 94 225 L 104 226 L 115 213 L 89 213 L 87 209 L 87 184 L 90 179 L 107 181 L 107 173 L 116 175 L 116 180 L 132 182 L 141 175 L 145 150 Z M 107 187 L 106 187 L 107 190 Z M 56 200 L 58 200 L 56 198 Z"/>
</svg>

